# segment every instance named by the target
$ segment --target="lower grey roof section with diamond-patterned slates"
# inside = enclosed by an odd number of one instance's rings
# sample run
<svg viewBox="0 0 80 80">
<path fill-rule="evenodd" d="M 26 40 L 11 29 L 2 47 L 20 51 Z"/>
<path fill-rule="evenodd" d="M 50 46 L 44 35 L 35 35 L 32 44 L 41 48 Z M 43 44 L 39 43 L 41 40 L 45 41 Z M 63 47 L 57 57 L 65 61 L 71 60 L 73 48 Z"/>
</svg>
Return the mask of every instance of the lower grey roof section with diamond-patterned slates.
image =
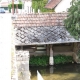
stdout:
<svg viewBox="0 0 80 80">
<path fill-rule="evenodd" d="M 56 44 L 79 42 L 64 26 L 18 27 L 15 31 L 15 45 Z"/>
</svg>

